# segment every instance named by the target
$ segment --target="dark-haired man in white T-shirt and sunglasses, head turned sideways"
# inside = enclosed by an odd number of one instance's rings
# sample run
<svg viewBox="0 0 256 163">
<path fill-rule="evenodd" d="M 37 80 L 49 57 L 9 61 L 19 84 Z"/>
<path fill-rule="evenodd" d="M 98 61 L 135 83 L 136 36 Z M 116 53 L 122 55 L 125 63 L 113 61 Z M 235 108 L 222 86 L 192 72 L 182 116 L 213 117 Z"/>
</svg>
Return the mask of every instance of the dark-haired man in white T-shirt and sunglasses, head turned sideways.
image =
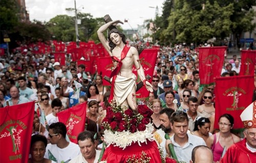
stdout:
<svg viewBox="0 0 256 163">
<path fill-rule="evenodd" d="M 50 144 L 46 147 L 45 158 L 58 163 L 68 162 L 80 154 L 79 146 L 66 140 L 67 128 L 61 122 L 49 126 Z"/>
</svg>

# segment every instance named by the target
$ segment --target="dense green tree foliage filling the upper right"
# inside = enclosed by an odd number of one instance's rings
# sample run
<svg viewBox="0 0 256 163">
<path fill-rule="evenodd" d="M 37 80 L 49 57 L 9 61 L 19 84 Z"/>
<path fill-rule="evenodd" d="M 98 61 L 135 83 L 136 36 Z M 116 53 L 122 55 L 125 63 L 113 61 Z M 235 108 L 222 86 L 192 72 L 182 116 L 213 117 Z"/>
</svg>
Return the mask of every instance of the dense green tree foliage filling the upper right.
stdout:
<svg viewBox="0 0 256 163">
<path fill-rule="evenodd" d="M 156 19 L 154 24 L 160 28 L 158 36 L 164 44 L 201 43 L 213 37 L 220 40 L 255 28 L 251 21 L 255 16 L 252 6 L 256 1 L 166 0 L 163 5 L 163 15 L 159 18 L 162 22 Z M 163 24 L 166 20 L 167 26 Z"/>
</svg>

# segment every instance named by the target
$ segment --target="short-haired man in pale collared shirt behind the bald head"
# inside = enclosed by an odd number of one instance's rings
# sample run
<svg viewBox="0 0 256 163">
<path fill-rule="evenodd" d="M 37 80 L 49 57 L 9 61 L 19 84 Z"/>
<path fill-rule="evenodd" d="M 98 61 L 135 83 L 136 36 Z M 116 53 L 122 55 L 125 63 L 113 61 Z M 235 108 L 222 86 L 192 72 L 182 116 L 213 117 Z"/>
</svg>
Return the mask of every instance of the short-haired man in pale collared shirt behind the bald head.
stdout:
<svg viewBox="0 0 256 163">
<path fill-rule="evenodd" d="M 179 161 L 189 162 L 191 159 L 191 152 L 194 147 L 199 145 L 206 145 L 204 140 L 196 135 L 187 133 L 188 117 L 183 111 L 177 111 L 170 117 L 170 127 L 174 132 L 174 136 L 170 140 L 166 140 L 165 149 L 167 155 L 170 156 L 168 145 L 173 143 L 174 151 Z"/>
</svg>

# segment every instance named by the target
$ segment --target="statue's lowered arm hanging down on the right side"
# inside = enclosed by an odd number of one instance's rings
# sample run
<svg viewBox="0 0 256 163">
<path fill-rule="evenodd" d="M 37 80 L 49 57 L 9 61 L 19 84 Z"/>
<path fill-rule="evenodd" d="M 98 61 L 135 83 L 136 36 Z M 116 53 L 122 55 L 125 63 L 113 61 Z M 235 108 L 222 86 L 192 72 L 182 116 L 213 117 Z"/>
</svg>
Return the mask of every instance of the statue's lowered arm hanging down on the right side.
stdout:
<svg viewBox="0 0 256 163">
<path fill-rule="evenodd" d="M 146 86 L 146 89 L 148 91 L 153 92 L 153 86 L 150 84 L 150 82 L 148 82 L 148 80 L 146 80 L 146 77 L 145 77 L 145 74 L 143 71 L 143 67 L 140 64 L 138 50 L 135 47 L 131 47 L 130 49 L 133 53 L 134 65 L 137 69 L 137 72 L 138 72 L 138 75 L 139 75 L 141 81 L 143 82 L 143 85 Z"/>
</svg>

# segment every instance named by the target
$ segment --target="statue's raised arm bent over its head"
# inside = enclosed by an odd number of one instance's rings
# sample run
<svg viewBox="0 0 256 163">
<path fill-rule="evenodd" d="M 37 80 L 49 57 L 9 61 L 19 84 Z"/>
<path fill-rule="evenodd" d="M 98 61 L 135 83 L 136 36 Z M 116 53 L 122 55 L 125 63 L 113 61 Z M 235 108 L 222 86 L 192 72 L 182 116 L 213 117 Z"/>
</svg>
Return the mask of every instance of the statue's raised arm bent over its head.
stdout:
<svg viewBox="0 0 256 163">
<path fill-rule="evenodd" d="M 100 28 L 97 31 L 100 42 L 102 43 L 104 48 L 109 52 L 110 56 L 112 56 L 112 52 L 110 51 L 109 42 L 108 42 L 108 40 L 106 40 L 103 32 L 106 31 L 109 28 L 109 26 L 111 26 L 111 25 L 116 26 L 118 23 L 123 24 L 123 22 L 120 20 L 110 21 L 110 22 L 105 23 L 104 25 L 100 26 Z"/>
</svg>

